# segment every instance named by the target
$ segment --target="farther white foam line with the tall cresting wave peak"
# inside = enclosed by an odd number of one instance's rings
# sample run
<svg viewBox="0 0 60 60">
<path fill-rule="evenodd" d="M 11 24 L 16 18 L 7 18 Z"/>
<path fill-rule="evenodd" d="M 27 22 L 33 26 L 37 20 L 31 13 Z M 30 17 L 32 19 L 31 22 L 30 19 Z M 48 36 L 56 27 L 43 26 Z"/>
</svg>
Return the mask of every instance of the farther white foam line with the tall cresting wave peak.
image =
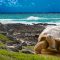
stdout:
<svg viewBox="0 0 60 60">
<path fill-rule="evenodd" d="M 44 17 L 35 17 L 35 16 L 29 16 L 27 18 L 23 18 L 23 19 L 0 19 L 0 21 L 3 21 L 3 20 L 9 20 L 9 21 L 21 21 L 21 20 L 50 20 L 50 19 L 53 19 L 53 20 L 60 20 L 60 18 L 44 18 Z"/>
</svg>

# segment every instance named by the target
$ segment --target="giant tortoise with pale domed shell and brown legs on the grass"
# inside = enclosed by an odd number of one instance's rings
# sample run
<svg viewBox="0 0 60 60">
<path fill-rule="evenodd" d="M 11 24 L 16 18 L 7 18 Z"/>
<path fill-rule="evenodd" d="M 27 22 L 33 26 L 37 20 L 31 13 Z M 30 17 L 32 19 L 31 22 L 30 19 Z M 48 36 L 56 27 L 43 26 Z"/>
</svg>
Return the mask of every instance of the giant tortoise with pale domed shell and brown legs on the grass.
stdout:
<svg viewBox="0 0 60 60">
<path fill-rule="evenodd" d="M 39 35 L 38 42 L 34 47 L 37 54 L 43 51 L 59 53 L 60 49 L 60 26 L 47 26 Z"/>
</svg>

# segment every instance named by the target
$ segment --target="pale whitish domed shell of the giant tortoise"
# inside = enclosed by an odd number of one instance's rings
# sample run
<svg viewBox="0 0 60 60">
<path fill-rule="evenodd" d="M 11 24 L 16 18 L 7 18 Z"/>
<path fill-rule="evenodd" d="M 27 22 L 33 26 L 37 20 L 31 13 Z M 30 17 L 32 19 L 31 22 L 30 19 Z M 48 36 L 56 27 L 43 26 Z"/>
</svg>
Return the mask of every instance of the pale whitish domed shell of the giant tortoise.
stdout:
<svg viewBox="0 0 60 60">
<path fill-rule="evenodd" d="M 47 26 L 46 29 L 39 35 L 38 41 L 41 40 L 43 36 L 52 36 L 54 39 L 60 40 L 60 26 Z"/>
</svg>

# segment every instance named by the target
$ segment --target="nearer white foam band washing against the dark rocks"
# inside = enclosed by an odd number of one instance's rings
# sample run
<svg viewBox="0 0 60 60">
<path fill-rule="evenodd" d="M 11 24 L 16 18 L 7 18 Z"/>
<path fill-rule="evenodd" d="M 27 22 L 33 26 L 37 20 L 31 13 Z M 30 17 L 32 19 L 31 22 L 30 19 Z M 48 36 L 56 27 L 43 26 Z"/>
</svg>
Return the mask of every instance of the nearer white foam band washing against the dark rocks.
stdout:
<svg viewBox="0 0 60 60">
<path fill-rule="evenodd" d="M 26 22 L 26 21 L 13 21 L 13 19 L 3 19 L 3 20 L 1 20 L 0 21 L 1 23 L 3 23 L 3 24 L 8 24 L 8 23 L 23 23 L 23 24 L 33 24 L 33 23 L 35 23 L 35 24 L 37 24 L 37 23 L 42 23 L 42 22 Z M 45 23 L 48 23 L 48 24 L 56 24 L 56 25 L 60 25 L 60 22 L 45 22 Z"/>
</svg>

